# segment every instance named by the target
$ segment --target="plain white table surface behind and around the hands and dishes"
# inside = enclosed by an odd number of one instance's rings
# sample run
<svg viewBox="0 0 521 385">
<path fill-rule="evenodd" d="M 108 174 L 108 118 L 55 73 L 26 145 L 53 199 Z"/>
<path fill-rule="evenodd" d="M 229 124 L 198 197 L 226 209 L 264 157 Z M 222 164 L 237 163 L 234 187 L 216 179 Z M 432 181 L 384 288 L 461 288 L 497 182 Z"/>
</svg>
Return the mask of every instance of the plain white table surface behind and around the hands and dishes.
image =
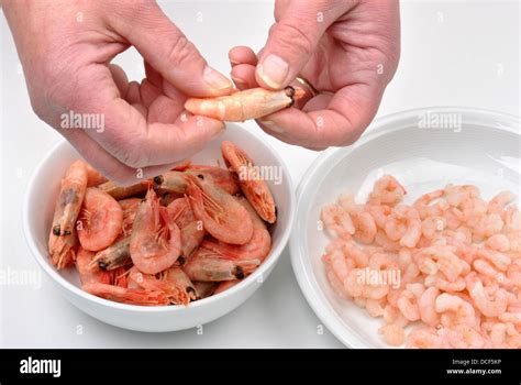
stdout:
<svg viewBox="0 0 521 385">
<path fill-rule="evenodd" d="M 162 2 L 165 12 L 208 61 L 229 72 L 233 45 L 262 47 L 271 24 L 265 1 Z M 519 2 L 403 2 L 402 54 L 378 116 L 424 106 L 469 106 L 519 114 Z M 133 79 L 143 77 L 133 52 L 117 62 Z M 60 140 L 33 114 L 20 62 L 5 20 L 0 18 L 0 346 L 1 348 L 340 348 L 308 306 L 286 249 L 271 276 L 232 314 L 203 333 L 140 333 L 118 329 L 73 307 L 38 268 L 21 227 L 24 190 L 44 154 Z M 264 134 L 287 162 L 297 185 L 318 153 Z M 5 279 L 7 273 L 11 278 Z M 36 274 L 34 283 L 13 276 Z"/>
</svg>

